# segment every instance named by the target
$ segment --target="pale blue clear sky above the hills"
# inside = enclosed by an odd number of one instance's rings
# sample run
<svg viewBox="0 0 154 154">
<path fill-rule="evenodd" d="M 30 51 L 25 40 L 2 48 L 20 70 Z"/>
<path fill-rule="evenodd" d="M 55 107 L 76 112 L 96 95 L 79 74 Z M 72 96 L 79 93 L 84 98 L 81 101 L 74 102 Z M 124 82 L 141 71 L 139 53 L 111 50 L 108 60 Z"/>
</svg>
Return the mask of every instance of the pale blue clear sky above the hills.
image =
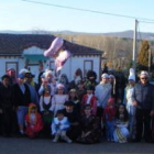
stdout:
<svg viewBox="0 0 154 154">
<path fill-rule="evenodd" d="M 140 32 L 154 33 L 154 0 L 0 0 L 0 31 L 74 31 L 108 33 L 134 30 L 135 19 L 105 13 L 151 19 L 139 21 Z M 61 7 L 78 8 L 88 11 Z"/>
</svg>

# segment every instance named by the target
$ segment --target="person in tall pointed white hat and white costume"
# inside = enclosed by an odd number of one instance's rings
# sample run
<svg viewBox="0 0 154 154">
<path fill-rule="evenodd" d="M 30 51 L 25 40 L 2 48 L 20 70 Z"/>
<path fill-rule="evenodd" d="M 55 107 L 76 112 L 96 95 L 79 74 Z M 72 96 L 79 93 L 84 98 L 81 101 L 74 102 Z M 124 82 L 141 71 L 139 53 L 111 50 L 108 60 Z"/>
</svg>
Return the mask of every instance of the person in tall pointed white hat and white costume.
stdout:
<svg viewBox="0 0 154 154">
<path fill-rule="evenodd" d="M 124 100 L 123 103 L 127 107 L 128 113 L 129 113 L 129 131 L 130 131 L 130 136 L 129 140 L 133 141 L 135 139 L 135 111 L 136 111 L 136 106 L 133 105 L 133 90 L 135 86 L 135 73 L 133 68 L 130 68 L 130 75 L 128 78 L 129 82 L 128 86 L 124 89 Z"/>
</svg>

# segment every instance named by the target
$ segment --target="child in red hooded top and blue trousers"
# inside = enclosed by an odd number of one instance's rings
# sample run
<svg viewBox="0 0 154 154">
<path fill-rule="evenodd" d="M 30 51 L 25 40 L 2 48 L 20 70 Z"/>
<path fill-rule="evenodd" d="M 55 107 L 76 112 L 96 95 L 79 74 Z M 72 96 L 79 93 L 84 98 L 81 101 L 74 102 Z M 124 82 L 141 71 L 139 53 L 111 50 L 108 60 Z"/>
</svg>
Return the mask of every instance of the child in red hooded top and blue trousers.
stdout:
<svg viewBox="0 0 154 154">
<path fill-rule="evenodd" d="M 109 98 L 108 105 L 103 111 L 103 122 L 106 123 L 106 134 L 108 141 L 113 141 L 114 121 L 116 121 L 114 99 Z"/>
</svg>

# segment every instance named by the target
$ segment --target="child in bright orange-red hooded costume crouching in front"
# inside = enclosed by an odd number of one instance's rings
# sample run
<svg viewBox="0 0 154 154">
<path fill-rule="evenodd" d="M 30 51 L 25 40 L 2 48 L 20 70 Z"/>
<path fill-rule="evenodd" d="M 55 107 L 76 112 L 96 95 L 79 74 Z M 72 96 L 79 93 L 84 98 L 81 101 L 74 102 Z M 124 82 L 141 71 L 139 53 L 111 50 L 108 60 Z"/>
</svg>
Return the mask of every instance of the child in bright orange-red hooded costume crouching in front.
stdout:
<svg viewBox="0 0 154 154">
<path fill-rule="evenodd" d="M 36 138 L 42 130 L 43 121 L 37 107 L 35 103 L 30 103 L 29 113 L 25 116 L 25 134 L 29 138 Z"/>
</svg>

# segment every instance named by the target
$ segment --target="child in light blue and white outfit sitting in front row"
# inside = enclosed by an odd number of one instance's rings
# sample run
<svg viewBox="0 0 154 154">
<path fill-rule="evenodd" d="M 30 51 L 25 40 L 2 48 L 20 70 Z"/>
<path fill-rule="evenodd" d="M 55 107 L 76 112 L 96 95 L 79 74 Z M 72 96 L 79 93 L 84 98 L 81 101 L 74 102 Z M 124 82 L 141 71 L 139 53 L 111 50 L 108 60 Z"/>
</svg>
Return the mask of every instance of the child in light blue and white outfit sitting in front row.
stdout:
<svg viewBox="0 0 154 154">
<path fill-rule="evenodd" d="M 66 135 L 66 131 L 69 129 L 69 125 L 67 118 L 64 116 L 64 111 L 58 110 L 56 118 L 54 118 L 52 122 L 52 134 L 55 136 L 53 142 L 58 142 L 61 138 L 67 143 L 72 143 L 73 141 Z"/>
</svg>

